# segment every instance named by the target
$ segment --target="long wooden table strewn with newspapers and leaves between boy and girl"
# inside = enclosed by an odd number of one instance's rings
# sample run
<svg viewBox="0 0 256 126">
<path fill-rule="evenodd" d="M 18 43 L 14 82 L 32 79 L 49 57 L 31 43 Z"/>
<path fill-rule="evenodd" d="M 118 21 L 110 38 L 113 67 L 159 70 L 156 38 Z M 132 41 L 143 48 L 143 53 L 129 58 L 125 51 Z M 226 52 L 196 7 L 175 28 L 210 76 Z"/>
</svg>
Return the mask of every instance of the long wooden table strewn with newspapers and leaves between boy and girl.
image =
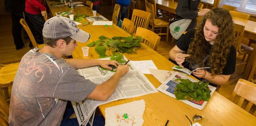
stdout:
<svg viewBox="0 0 256 126">
<path fill-rule="evenodd" d="M 58 9 L 54 9 L 54 11 L 59 12 Z M 51 12 L 54 11 L 51 10 Z M 86 12 L 84 12 L 83 14 L 86 14 Z M 113 25 L 113 27 L 111 28 L 92 25 L 86 25 L 80 28 L 90 33 L 91 38 L 87 43 L 78 43 L 78 47 L 76 47 L 72 54 L 74 58 L 98 58 L 98 54 L 96 54 L 96 52 L 94 51 L 94 47 L 90 47 L 88 57 L 84 57 L 82 55 L 81 47 L 86 46 L 92 41 L 98 40 L 98 36 L 100 35 L 105 35 L 106 37 L 126 37 L 129 35 L 128 33 L 122 31 L 122 29 L 120 29 L 116 25 Z M 171 68 L 172 66 L 174 66 L 172 62 L 168 61 L 166 58 L 164 58 L 151 48 L 146 47 L 145 45 L 143 45 L 142 48 L 139 48 L 134 54 L 124 55 L 127 58 L 132 58 L 132 60 L 153 60 L 154 64 L 156 64 L 157 68 L 160 70 L 172 70 Z M 145 74 L 145 76 L 155 87 L 158 87 L 160 85 L 160 82 L 156 78 L 154 78 L 154 76 L 150 74 Z M 204 119 L 199 121 L 199 123 L 203 126 L 252 126 L 256 124 L 256 117 L 241 109 L 217 92 L 212 95 L 210 101 L 206 104 L 203 110 L 193 108 L 161 92 L 114 101 L 108 104 L 100 105 L 99 109 L 105 116 L 105 109 L 107 107 L 112 107 L 115 105 L 120 105 L 140 99 L 144 99 L 146 103 L 146 109 L 143 114 L 143 126 L 164 126 L 167 119 L 170 119 L 168 126 L 189 126 L 190 122 L 185 117 L 184 113 L 186 113 L 191 120 L 194 114 L 203 115 Z"/>
</svg>

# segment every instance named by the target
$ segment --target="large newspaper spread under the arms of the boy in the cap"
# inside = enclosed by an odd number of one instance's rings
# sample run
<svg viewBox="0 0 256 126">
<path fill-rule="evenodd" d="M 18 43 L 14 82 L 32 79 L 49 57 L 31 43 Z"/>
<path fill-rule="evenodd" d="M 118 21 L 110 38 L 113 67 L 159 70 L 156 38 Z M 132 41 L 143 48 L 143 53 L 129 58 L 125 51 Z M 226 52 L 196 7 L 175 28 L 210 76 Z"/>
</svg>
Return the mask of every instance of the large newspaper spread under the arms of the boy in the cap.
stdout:
<svg viewBox="0 0 256 126">
<path fill-rule="evenodd" d="M 104 60 L 109 59 L 110 58 L 104 58 Z M 99 105 L 119 99 L 127 99 L 158 92 L 142 72 L 136 70 L 132 64 L 129 65 L 129 72 L 120 79 L 116 90 L 108 100 L 96 101 L 92 99 L 85 99 L 79 103 L 72 102 L 72 106 L 80 126 L 86 125 L 88 122 L 90 124 L 93 122 L 93 119 L 91 119 L 92 122 L 90 122 L 89 119 Z M 100 66 L 78 69 L 78 73 L 84 76 L 85 79 L 90 79 L 96 84 L 105 82 L 114 74 L 114 72 L 109 70 L 101 70 Z"/>
</svg>

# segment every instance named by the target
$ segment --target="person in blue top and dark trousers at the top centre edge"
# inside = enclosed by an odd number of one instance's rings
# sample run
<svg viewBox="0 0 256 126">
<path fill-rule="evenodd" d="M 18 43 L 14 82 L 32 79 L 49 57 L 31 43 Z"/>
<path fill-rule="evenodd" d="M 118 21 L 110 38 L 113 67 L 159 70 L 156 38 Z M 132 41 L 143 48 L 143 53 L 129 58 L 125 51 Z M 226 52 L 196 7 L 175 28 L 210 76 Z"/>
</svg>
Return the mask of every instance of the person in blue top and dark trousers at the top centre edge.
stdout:
<svg viewBox="0 0 256 126">
<path fill-rule="evenodd" d="M 124 20 L 124 18 L 127 17 L 127 11 L 128 8 L 130 6 L 130 0 L 116 0 L 116 3 L 120 5 L 120 17 L 118 17 L 118 21 L 119 19 L 121 19 L 122 21 Z"/>
</svg>

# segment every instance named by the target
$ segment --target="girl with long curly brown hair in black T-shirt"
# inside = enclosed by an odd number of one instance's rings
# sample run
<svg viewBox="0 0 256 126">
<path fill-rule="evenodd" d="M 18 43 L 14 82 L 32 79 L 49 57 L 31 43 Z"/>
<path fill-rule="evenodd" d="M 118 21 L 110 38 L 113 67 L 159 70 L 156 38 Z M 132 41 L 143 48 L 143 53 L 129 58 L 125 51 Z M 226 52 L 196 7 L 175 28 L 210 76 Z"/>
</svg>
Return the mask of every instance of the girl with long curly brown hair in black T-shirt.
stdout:
<svg viewBox="0 0 256 126">
<path fill-rule="evenodd" d="M 171 60 L 181 67 L 196 70 L 192 74 L 216 85 L 225 84 L 235 71 L 236 48 L 234 23 L 227 10 L 215 8 L 202 18 L 196 29 L 188 31 L 169 52 Z M 186 53 L 188 58 L 179 58 Z"/>
</svg>

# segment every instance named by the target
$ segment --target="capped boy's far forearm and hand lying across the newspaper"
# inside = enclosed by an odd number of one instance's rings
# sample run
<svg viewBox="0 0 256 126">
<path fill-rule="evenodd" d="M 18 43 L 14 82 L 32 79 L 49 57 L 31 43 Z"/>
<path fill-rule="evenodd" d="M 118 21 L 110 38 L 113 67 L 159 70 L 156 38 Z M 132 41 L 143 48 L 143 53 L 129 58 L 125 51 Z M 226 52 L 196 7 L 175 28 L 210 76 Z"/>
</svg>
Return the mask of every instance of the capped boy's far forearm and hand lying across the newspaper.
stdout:
<svg viewBox="0 0 256 126">
<path fill-rule="evenodd" d="M 70 66 L 74 67 L 75 69 L 80 68 L 87 68 L 91 66 L 101 66 L 105 69 L 111 70 L 112 68 L 108 65 L 114 65 L 116 68 L 119 65 L 117 61 L 110 61 L 110 60 L 86 60 L 86 59 L 65 59 Z"/>
</svg>

